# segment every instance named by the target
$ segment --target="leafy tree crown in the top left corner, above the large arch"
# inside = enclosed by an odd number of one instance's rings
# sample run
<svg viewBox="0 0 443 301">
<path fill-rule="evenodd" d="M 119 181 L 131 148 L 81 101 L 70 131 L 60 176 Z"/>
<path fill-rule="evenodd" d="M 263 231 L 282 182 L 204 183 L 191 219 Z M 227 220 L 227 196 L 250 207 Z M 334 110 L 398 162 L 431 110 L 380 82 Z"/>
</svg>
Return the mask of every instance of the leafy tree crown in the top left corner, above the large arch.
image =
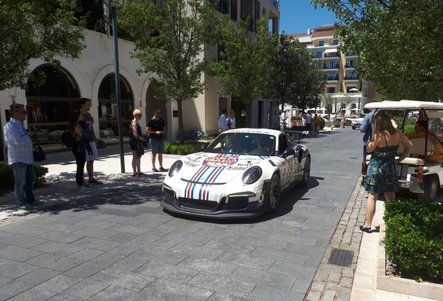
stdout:
<svg viewBox="0 0 443 301">
<path fill-rule="evenodd" d="M 0 91 L 26 88 L 30 59 L 58 65 L 56 56 L 77 59 L 84 34 L 75 17 L 75 0 L 0 2 Z M 41 78 L 40 78 L 41 79 Z"/>
</svg>

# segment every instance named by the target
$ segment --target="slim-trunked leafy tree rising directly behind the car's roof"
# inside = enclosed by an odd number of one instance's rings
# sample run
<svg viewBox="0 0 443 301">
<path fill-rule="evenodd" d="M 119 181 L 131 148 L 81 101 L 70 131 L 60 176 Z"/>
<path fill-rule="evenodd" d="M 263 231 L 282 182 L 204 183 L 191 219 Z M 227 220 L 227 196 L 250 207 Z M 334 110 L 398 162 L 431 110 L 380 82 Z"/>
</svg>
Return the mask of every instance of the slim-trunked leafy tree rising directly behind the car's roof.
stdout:
<svg viewBox="0 0 443 301">
<path fill-rule="evenodd" d="M 247 108 L 246 125 L 251 124 L 251 102 L 270 93 L 274 75 L 277 38 L 270 36 L 267 15 L 233 22 L 228 15 L 220 18 L 219 60 L 212 63 L 211 75 L 222 84 L 221 93 L 241 100 Z"/>
</svg>

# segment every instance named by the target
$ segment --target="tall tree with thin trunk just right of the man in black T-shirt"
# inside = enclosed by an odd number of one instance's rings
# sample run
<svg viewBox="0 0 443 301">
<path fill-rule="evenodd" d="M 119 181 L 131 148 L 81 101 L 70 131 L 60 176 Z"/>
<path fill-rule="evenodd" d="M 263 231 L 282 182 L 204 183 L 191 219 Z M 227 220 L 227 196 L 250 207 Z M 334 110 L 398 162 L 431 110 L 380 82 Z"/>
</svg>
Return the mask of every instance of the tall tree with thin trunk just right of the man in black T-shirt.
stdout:
<svg viewBox="0 0 443 301">
<path fill-rule="evenodd" d="M 208 67 L 201 58 L 212 41 L 215 4 L 200 0 L 125 1 L 119 25 L 137 47 L 139 72 L 155 72 L 161 84 L 155 90 L 177 102 L 178 137 L 184 142 L 182 102 L 203 93 L 202 74 Z"/>
</svg>

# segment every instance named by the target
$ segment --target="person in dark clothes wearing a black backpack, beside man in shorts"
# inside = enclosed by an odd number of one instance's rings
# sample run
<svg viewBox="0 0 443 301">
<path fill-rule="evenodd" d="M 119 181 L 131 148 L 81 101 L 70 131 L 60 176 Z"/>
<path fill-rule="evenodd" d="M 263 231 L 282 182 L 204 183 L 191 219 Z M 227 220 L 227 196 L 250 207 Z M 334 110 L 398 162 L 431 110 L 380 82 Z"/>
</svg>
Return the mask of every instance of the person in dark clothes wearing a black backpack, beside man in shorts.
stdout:
<svg viewBox="0 0 443 301">
<path fill-rule="evenodd" d="M 81 194 L 88 194 L 91 192 L 91 188 L 84 183 L 84 164 L 86 163 L 85 144 L 89 145 L 88 139 L 84 136 L 84 131 L 86 131 L 88 127 L 89 125 L 86 125 L 81 111 L 72 112 L 69 120 L 69 130 L 73 142 L 72 153 L 75 155 L 75 164 L 77 165 L 77 170 L 75 171 L 77 192 Z M 80 146 L 82 146 L 82 149 Z"/>
</svg>

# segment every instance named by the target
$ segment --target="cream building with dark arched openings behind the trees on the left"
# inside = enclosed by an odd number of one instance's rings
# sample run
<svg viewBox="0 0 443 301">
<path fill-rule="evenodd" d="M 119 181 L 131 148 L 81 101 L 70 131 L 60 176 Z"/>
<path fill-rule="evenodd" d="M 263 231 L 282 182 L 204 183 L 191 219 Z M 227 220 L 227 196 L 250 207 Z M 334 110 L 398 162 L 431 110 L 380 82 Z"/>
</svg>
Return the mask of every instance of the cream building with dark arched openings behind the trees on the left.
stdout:
<svg viewBox="0 0 443 301">
<path fill-rule="evenodd" d="M 217 14 L 229 14 L 232 20 L 251 16 L 251 30 L 258 18 L 270 13 L 268 24 L 272 32 L 279 32 L 278 0 L 220 0 Z M 100 14 L 99 14 L 100 15 Z M 86 48 L 75 61 L 58 57 L 59 68 L 53 68 L 41 59 L 30 61 L 33 72 L 42 71 L 47 76 L 44 86 L 35 88 L 29 83 L 28 88 L 10 88 L 0 91 L 1 127 L 8 121 L 8 108 L 13 102 L 26 105 L 27 123 L 39 129 L 40 141 L 56 142 L 61 132 L 68 129 L 68 118 L 72 110 L 78 109 L 79 98 L 90 98 L 93 103 L 91 114 L 95 118 L 95 133 L 100 137 L 112 137 L 118 134 L 117 105 L 114 76 L 114 41 L 106 31 L 98 32 L 86 29 Z M 123 115 L 123 134 L 129 134 L 132 111 L 135 108 L 144 111 L 141 127 L 145 127 L 154 108 L 162 110 L 167 122 L 169 141 L 178 139 L 178 111 L 176 102 L 159 100 L 150 84 L 157 75 L 153 72 L 138 74 L 139 61 L 131 58 L 134 44 L 118 39 L 119 69 L 121 85 L 121 112 Z M 201 56 L 217 58 L 217 47 L 206 50 Z M 247 114 L 241 102 L 231 102 L 229 95 L 219 95 L 219 84 L 209 75 L 203 75 L 206 89 L 203 94 L 183 105 L 185 130 L 201 129 L 208 134 L 218 132 L 218 118 L 221 109 L 235 109 L 241 125 L 242 115 Z M 270 100 L 256 100 L 252 105 L 251 126 L 270 128 L 278 124 L 278 108 Z M 2 133 L 3 135 L 3 133 Z M 3 151 L 6 145 L 1 139 Z"/>
</svg>

